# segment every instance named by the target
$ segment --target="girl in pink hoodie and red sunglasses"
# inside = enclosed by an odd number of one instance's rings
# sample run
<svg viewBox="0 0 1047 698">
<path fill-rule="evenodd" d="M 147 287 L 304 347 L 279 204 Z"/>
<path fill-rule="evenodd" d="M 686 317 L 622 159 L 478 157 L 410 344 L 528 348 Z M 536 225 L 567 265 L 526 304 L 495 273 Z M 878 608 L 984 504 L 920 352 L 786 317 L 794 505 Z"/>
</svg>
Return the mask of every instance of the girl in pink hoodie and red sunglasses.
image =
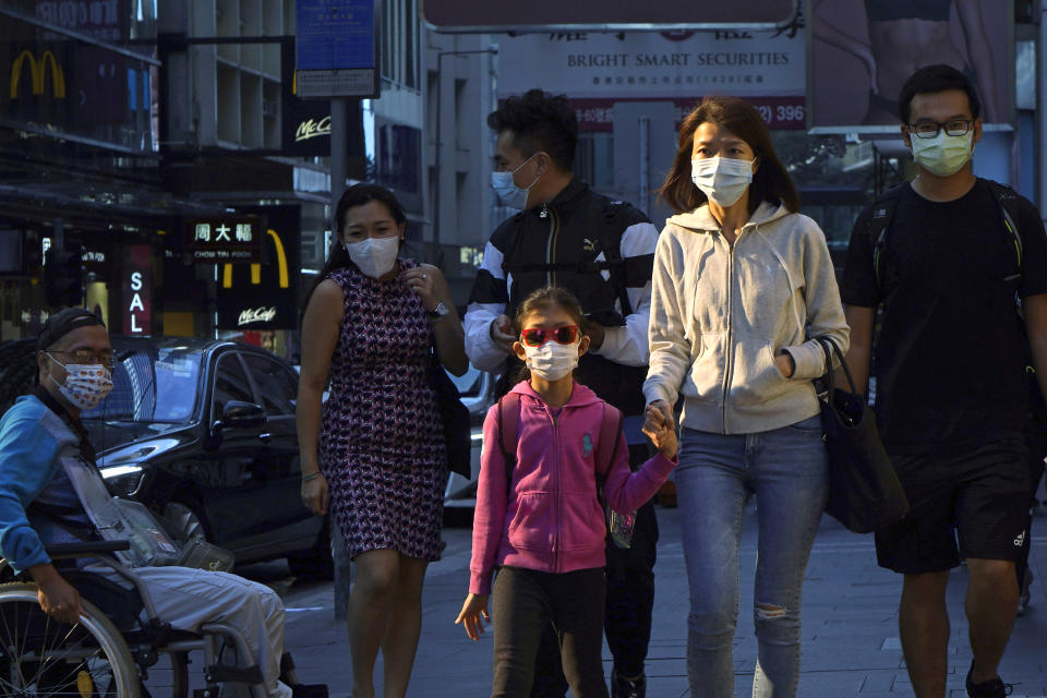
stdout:
<svg viewBox="0 0 1047 698">
<path fill-rule="evenodd" d="M 621 429 L 617 444 L 599 443 L 604 419 L 617 414 L 571 375 L 589 337 L 569 291 L 547 287 L 531 293 L 517 310 L 515 328 L 519 340 L 513 349 L 529 376 L 513 388 L 513 400 L 503 398 L 514 407 L 500 401 L 483 424 L 469 595 L 455 623 L 464 624 L 473 640 L 479 638 L 483 621 L 491 619 L 488 597 L 497 568 L 491 695 L 530 694 L 539 638 L 552 622 L 573 695 L 604 698 L 600 652 L 606 522 L 598 477 L 612 509 L 634 512 L 676 465 L 676 433 L 664 423 L 657 426 L 658 416 L 649 416 L 648 423 L 655 425 L 645 433 L 659 454 L 637 472 L 629 471 Z M 518 416 L 509 413 L 516 405 Z M 506 464 L 500 431 L 509 420 L 517 438 L 505 446 L 515 448 L 509 458 L 515 464 Z M 603 466 L 605 472 L 598 473 L 598 454 L 606 448 L 613 456 Z"/>
</svg>

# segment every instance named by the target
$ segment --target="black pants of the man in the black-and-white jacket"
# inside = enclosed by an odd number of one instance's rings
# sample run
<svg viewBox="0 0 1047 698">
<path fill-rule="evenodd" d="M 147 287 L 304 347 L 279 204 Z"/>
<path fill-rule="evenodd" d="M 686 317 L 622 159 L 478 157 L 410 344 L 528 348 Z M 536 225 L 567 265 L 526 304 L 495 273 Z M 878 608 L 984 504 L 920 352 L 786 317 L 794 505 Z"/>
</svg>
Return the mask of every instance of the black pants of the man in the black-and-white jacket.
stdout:
<svg viewBox="0 0 1047 698">
<path fill-rule="evenodd" d="M 629 460 L 642 465 L 646 446 L 630 446 Z M 636 461 L 639 460 L 639 464 Z M 658 519 L 648 502 L 636 513 L 633 545 L 622 550 L 607 544 L 607 595 L 603 627 L 614 670 L 622 676 L 643 672 L 647 647 L 651 641 L 651 613 L 654 609 L 654 562 L 658 549 Z M 567 679 L 559 663 L 556 633 L 547 627 L 534 662 L 531 698 L 563 698 Z"/>
</svg>

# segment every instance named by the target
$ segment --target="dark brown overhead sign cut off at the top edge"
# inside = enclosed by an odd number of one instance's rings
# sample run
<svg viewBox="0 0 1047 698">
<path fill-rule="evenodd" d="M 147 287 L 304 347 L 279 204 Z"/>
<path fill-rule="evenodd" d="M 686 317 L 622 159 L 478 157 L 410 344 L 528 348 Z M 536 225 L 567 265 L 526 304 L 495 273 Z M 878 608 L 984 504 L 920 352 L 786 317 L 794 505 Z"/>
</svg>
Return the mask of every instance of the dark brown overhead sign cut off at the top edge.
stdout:
<svg viewBox="0 0 1047 698">
<path fill-rule="evenodd" d="M 437 32 L 770 28 L 791 24 L 798 4 L 798 0 L 422 0 L 422 16 Z"/>
</svg>

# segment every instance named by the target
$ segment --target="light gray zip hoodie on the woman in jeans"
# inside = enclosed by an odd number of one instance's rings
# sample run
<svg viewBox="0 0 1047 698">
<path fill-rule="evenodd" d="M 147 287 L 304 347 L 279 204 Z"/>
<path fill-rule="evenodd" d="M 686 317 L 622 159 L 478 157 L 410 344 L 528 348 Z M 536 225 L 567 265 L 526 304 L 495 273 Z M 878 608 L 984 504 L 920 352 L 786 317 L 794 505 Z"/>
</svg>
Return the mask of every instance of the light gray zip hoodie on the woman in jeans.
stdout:
<svg viewBox="0 0 1047 698">
<path fill-rule="evenodd" d="M 708 206 L 673 216 L 654 253 L 648 402 L 676 402 L 682 423 L 720 434 L 763 432 L 818 413 L 825 373 L 814 339 L 842 352 L 850 330 L 826 236 L 807 216 L 760 204 L 734 244 Z M 796 371 L 774 363 L 780 349 Z"/>
</svg>

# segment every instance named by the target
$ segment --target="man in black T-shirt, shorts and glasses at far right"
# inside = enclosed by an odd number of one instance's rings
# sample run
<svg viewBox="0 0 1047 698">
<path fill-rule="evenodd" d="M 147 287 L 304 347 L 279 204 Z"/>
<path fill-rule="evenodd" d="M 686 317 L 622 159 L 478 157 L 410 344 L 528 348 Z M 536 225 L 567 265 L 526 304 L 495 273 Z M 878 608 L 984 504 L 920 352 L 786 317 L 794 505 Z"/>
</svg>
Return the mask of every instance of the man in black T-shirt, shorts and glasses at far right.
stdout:
<svg viewBox="0 0 1047 698">
<path fill-rule="evenodd" d="M 1047 387 L 1047 241 L 1028 201 L 973 173 L 980 105 L 964 73 L 922 68 L 899 105 L 918 176 L 858 217 L 843 284 L 847 363 L 864 389 L 871 362 L 880 435 L 912 507 L 877 531 L 877 559 L 904 575 L 899 629 L 917 698 L 946 695 L 946 586 L 966 559 L 966 690 L 996 698 L 1028 537 L 1026 366 Z"/>
</svg>

